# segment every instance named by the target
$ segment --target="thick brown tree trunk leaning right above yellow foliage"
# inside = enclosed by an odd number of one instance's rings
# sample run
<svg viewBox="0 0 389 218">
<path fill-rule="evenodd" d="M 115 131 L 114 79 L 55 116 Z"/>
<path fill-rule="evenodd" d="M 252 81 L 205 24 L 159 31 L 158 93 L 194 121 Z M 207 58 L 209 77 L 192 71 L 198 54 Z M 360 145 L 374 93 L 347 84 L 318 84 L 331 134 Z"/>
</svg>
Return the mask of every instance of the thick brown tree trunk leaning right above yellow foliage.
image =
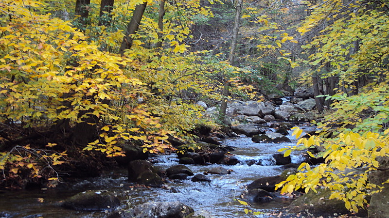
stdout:
<svg viewBox="0 0 389 218">
<path fill-rule="evenodd" d="M 123 38 L 122 45 L 119 49 L 119 54 L 123 55 L 124 50 L 130 49 L 132 46 L 132 35 L 138 31 L 139 25 L 141 23 L 141 19 L 146 9 L 147 1 L 144 1 L 142 4 L 138 4 L 134 10 L 134 14 L 132 15 L 131 21 L 127 26 L 126 34 Z"/>
</svg>

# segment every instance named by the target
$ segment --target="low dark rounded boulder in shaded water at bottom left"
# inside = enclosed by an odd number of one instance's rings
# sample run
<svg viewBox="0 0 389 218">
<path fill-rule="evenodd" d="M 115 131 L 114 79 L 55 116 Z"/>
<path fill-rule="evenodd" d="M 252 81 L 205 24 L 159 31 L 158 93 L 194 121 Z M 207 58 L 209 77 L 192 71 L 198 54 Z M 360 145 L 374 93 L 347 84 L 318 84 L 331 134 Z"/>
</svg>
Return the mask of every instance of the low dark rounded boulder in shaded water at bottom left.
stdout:
<svg viewBox="0 0 389 218">
<path fill-rule="evenodd" d="M 120 200 L 111 191 L 84 191 L 64 200 L 61 206 L 83 211 L 111 210 L 120 206 Z"/>
</svg>

